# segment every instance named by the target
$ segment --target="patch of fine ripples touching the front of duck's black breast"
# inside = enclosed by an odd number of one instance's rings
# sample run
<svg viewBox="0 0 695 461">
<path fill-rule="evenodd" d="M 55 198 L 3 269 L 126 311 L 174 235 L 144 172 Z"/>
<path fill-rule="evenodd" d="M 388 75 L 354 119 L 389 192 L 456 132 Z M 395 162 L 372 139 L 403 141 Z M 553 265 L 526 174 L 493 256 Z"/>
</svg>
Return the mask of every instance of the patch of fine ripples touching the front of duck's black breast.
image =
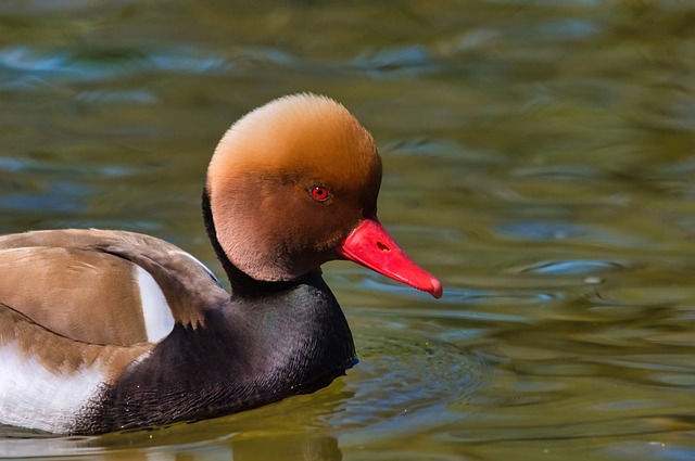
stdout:
<svg viewBox="0 0 695 461">
<path fill-rule="evenodd" d="M 355 342 L 361 361 L 345 377 L 345 390 L 353 395 L 325 419 L 341 432 L 348 430 L 350 439 L 374 438 L 379 430 L 391 434 L 395 426 L 418 432 L 441 423 L 425 415 L 435 409 L 437 418 L 445 418 L 447 404 L 479 392 L 491 373 L 480 353 L 439 341 L 357 334 Z"/>
</svg>

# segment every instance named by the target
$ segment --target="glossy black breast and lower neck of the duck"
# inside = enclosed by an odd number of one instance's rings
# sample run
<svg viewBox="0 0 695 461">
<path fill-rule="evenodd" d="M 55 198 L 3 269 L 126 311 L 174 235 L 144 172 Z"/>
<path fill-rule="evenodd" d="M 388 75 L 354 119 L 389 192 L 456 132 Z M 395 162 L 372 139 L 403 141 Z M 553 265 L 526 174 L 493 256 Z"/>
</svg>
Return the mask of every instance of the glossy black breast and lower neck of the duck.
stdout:
<svg viewBox="0 0 695 461">
<path fill-rule="evenodd" d="M 265 283 L 267 284 L 267 282 Z M 267 289 L 267 286 L 264 286 Z M 267 293 L 267 290 L 264 290 Z M 177 324 L 79 417 L 74 433 L 200 420 L 321 388 L 356 362 L 352 334 L 318 273 L 232 299 L 204 326 Z"/>
</svg>

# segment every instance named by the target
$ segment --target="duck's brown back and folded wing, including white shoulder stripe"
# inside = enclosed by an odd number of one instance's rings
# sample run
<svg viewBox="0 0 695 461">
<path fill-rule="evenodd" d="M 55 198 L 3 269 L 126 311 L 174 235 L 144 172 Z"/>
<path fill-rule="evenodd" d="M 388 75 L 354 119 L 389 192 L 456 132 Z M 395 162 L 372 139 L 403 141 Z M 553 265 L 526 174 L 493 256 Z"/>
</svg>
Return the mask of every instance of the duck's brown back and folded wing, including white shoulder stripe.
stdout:
<svg viewBox="0 0 695 461">
<path fill-rule="evenodd" d="M 175 322 L 197 328 L 227 297 L 204 266 L 148 235 L 72 229 L 0 236 L 0 303 L 76 341 L 154 343 Z"/>
</svg>

